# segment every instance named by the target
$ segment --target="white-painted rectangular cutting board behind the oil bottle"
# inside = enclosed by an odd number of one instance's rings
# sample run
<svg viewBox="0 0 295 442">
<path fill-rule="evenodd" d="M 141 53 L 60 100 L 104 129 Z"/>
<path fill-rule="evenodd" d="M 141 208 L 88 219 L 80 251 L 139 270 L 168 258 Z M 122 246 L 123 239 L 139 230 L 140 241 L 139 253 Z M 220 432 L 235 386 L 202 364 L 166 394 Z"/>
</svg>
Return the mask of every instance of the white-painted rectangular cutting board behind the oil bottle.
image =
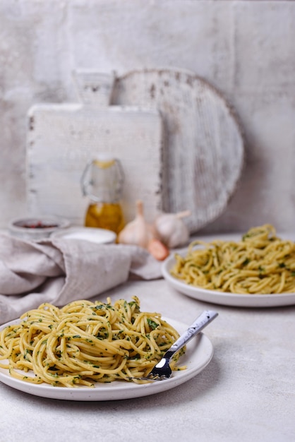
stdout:
<svg viewBox="0 0 295 442">
<path fill-rule="evenodd" d="M 27 196 L 30 215 L 58 215 L 83 225 L 88 198 L 80 178 L 96 153 L 121 161 L 126 222 L 137 199 L 151 222 L 161 210 L 162 119 L 157 109 L 36 104 L 28 112 Z"/>
</svg>

